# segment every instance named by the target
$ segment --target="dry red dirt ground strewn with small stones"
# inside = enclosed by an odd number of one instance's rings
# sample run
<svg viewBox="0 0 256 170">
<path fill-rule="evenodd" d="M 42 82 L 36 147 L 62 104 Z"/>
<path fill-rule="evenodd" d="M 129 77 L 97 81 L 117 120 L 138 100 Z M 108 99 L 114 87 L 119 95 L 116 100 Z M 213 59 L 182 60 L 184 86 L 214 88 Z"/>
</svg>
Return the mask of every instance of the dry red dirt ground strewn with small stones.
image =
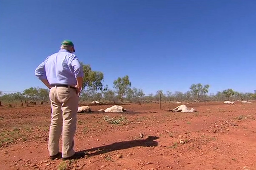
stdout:
<svg viewBox="0 0 256 170">
<path fill-rule="evenodd" d="M 75 149 L 88 156 L 66 162 L 49 160 L 49 104 L 0 107 L 0 169 L 256 169 L 256 103 L 187 104 L 193 113 L 167 112 L 174 103 L 122 106 L 120 124 L 103 119 L 120 113 L 78 114 Z"/>
</svg>

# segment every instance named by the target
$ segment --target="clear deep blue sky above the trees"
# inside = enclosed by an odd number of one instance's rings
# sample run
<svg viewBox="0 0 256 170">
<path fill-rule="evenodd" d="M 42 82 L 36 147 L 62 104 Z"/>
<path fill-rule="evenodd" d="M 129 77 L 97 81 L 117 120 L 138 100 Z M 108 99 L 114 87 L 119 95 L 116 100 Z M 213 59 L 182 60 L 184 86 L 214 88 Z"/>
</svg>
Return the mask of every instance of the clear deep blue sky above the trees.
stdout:
<svg viewBox="0 0 256 170">
<path fill-rule="evenodd" d="M 145 94 L 256 89 L 255 0 L 0 0 L 0 90 L 44 87 L 34 75 L 64 39 L 105 84 L 128 75 Z"/>
</svg>

